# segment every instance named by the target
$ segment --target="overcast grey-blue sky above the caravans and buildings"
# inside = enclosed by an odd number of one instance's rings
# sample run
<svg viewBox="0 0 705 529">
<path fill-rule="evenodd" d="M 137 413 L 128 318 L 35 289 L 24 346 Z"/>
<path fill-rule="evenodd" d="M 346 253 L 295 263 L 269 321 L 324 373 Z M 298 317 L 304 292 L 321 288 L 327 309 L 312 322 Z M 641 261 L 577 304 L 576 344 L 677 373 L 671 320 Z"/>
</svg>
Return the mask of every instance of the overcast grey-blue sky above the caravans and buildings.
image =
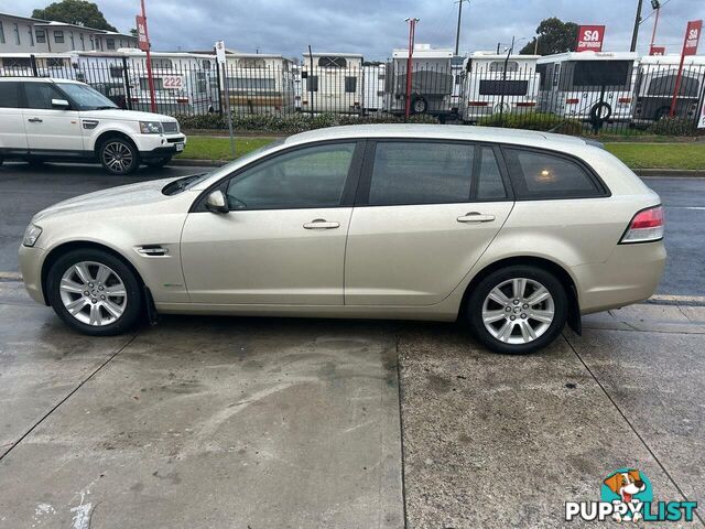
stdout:
<svg viewBox="0 0 705 529">
<path fill-rule="evenodd" d="M 30 15 L 53 0 L 0 0 L 0 12 Z M 406 17 L 421 19 L 416 42 L 453 47 L 457 3 L 453 0 L 145 0 L 153 50 L 212 47 L 225 40 L 241 52 L 281 53 L 301 57 L 308 44 L 318 52 L 355 52 L 382 60 L 405 47 Z M 685 24 L 705 19 L 705 0 L 661 0 L 657 43 L 677 53 Z M 110 23 L 134 28 L 139 0 L 97 0 Z M 642 17 L 652 13 L 644 0 Z M 462 51 L 492 50 L 518 39 L 518 48 L 533 36 L 542 19 L 557 17 L 583 24 L 605 24 L 605 50 L 629 48 L 637 0 L 470 0 L 463 8 Z M 654 17 L 646 20 L 639 48 L 647 53 Z M 705 40 L 701 42 L 705 53 Z"/>
</svg>

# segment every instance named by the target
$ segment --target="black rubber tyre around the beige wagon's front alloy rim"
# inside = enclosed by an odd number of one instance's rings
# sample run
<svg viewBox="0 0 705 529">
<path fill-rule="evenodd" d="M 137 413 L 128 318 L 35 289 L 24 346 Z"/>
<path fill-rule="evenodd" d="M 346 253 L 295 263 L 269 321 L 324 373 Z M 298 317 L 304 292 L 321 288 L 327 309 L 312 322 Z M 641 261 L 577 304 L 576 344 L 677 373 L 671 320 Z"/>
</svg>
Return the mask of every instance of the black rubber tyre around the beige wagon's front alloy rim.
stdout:
<svg viewBox="0 0 705 529">
<path fill-rule="evenodd" d="M 127 295 L 124 310 L 122 312 L 122 315 L 116 319 L 116 321 L 113 321 L 112 323 L 107 323 L 100 326 L 89 325 L 77 320 L 68 312 L 66 306 L 64 306 L 62 293 L 59 290 L 62 277 L 74 264 L 83 261 L 90 261 L 110 268 L 112 271 L 115 271 L 115 273 L 119 277 L 119 279 L 122 281 L 122 284 L 124 285 L 124 292 Z M 52 309 L 54 309 L 54 312 L 56 312 L 58 317 L 61 317 L 69 327 L 90 336 L 112 336 L 116 334 L 122 334 L 134 327 L 144 314 L 144 300 L 139 279 L 135 277 L 132 269 L 128 267 L 121 259 L 102 250 L 91 248 L 77 249 L 59 257 L 56 262 L 52 264 L 52 268 L 48 271 L 46 280 L 46 292 L 50 305 L 52 305 Z M 72 295 L 80 298 L 83 294 L 76 293 Z M 85 306 L 88 307 L 88 312 L 90 312 L 90 305 L 88 304 L 90 300 L 88 299 L 88 296 L 86 302 L 87 303 Z M 104 311 L 104 314 L 107 314 L 107 311 L 105 311 L 105 309 L 100 310 Z"/>
</svg>

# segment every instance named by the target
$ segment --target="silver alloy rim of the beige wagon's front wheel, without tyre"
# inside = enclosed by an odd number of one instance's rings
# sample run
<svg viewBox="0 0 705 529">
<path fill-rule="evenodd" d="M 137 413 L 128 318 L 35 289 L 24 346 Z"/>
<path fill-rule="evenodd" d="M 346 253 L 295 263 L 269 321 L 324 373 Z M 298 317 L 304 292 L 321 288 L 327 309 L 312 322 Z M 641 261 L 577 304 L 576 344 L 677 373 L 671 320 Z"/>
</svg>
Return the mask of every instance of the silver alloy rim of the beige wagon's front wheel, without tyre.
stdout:
<svg viewBox="0 0 705 529">
<path fill-rule="evenodd" d="M 66 311 L 86 325 L 115 323 L 128 304 L 122 279 L 100 262 L 82 261 L 73 264 L 62 276 L 58 289 Z"/>
</svg>

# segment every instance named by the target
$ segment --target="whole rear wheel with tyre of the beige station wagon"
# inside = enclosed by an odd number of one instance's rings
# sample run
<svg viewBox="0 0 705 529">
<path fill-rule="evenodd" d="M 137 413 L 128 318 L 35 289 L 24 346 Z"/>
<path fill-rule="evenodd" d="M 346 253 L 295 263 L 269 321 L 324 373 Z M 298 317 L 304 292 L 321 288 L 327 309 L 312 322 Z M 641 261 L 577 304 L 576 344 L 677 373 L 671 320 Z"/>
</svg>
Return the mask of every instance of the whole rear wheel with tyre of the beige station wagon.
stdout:
<svg viewBox="0 0 705 529">
<path fill-rule="evenodd" d="M 523 355 L 555 339 L 567 319 L 561 281 L 534 266 L 491 272 L 473 289 L 467 317 L 473 334 L 496 353 Z"/>
</svg>

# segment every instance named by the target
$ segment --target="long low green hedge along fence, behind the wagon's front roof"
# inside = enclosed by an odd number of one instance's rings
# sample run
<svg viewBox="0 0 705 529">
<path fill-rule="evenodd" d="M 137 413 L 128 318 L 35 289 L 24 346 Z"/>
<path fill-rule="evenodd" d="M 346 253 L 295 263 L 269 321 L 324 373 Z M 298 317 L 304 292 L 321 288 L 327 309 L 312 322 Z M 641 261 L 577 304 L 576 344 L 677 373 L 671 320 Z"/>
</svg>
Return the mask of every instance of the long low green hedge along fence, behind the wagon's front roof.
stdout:
<svg viewBox="0 0 705 529">
<path fill-rule="evenodd" d="M 217 112 L 189 116 L 176 116 L 182 129 L 227 129 L 228 120 L 226 116 Z M 403 118 L 383 114 L 380 116 L 354 116 L 341 114 L 317 114 L 314 117 L 304 112 L 286 115 L 252 114 L 232 115 L 232 128 L 237 131 L 274 132 L 293 134 L 306 130 L 322 129 L 325 127 L 336 127 L 339 125 L 364 125 L 364 123 L 401 123 Z M 437 123 L 433 116 L 415 115 L 409 119 L 411 123 Z"/>
</svg>

